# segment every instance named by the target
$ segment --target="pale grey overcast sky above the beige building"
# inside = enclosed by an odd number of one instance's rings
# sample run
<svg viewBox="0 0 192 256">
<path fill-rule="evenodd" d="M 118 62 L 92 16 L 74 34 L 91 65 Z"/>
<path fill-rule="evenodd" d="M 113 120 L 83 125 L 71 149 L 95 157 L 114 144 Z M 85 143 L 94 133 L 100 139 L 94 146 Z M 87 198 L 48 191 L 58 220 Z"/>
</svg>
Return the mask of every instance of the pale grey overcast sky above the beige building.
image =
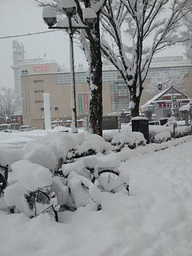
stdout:
<svg viewBox="0 0 192 256">
<path fill-rule="evenodd" d="M 0 0 L 1 30 L 0 37 L 37 33 L 47 31 L 47 26 L 42 19 L 42 9 L 34 6 L 33 0 Z M 22 42 L 26 58 L 54 59 L 59 65 L 69 67 L 69 36 L 63 31 L 45 34 L 29 35 L 25 37 L 0 39 L 0 87 L 14 87 L 14 76 L 11 65 L 13 64 L 12 41 L 17 39 Z M 86 59 L 81 50 L 74 46 L 75 65 L 82 63 L 86 67 Z M 174 46 L 162 56 L 182 55 L 183 47 Z"/>
</svg>

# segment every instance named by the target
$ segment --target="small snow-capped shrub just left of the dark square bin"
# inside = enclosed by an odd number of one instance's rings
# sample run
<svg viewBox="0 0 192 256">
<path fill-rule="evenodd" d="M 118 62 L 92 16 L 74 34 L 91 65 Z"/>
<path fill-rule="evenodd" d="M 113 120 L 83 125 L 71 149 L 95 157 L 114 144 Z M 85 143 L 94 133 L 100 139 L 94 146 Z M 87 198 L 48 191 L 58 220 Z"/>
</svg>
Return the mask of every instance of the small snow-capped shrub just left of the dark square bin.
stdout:
<svg viewBox="0 0 192 256">
<path fill-rule="evenodd" d="M 142 133 L 137 131 L 118 133 L 114 135 L 111 140 L 111 145 L 119 146 L 119 149 L 122 149 L 125 146 L 128 146 L 130 149 L 135 149 L 135 147 L 140 145 L 145 146 L 146 139 Z"/>
</svg>

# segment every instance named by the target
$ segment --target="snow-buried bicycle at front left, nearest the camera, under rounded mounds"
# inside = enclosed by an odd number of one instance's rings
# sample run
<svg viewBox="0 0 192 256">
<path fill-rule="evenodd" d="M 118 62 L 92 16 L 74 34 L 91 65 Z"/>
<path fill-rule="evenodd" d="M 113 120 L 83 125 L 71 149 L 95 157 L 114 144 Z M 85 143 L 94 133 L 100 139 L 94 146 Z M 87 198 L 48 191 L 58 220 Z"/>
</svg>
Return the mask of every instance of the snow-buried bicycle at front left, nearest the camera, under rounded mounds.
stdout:
<svg viewBox="0 0 192 256">
<path fill-rule="evenodd" d="M 7 180 L 8 166 L 6 170 Z M 60 206 L 55 193 L 50 191 L 52 177 L 49 169 L 27 160 L 20 160 L 11 165 L 11 170 L 17 174 L 17 181 L 3 190 L 7 209 L 11 213 L 24 212 L 30 218 L 49 213 L 58 222 L 57 211 Z M 38 187 L 36 183 L 42 187 Z"/>
</svg>

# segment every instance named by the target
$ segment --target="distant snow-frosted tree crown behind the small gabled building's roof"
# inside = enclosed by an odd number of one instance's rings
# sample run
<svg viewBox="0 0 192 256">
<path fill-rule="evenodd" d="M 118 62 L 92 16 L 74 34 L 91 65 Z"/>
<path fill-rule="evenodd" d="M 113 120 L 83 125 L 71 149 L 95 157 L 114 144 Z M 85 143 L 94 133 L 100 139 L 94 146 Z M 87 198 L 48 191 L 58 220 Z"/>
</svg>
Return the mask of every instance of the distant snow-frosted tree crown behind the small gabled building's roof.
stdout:
<svg viewBox="0 0 192 256">
<path fill-rule="evenodd" d="M 158 85 L 162 85 L 161 90 L 165 90 L 171 86 L 178 89 L 183 82 L 183 77 L 184 75 L 181 75 L 180 73 L 158 73 L 151 79 L 146 91 L 154 96 L 160 93 Z"/>
</svg>

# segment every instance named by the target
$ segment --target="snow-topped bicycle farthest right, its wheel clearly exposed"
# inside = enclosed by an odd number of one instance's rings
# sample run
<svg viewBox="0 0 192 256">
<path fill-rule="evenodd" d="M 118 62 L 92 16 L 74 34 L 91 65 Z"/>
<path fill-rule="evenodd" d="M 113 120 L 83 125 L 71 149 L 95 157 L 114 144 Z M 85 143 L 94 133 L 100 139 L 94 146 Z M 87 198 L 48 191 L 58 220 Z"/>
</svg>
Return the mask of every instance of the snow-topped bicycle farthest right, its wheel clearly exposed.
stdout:
<svg viewBox="0 0 192 256">
<path fill-rule="evenodd" d="M 111 162 L 107 155 L 90 155 L 75 162 L 65 163 L 61 170 L 67 177 L 72 170 L 80 173 L 93 182 L 99 190 L 111 193 L 126 189 L 129 195 L 129 175 L 122 174 L 118 170 L 119 161 Z"/>
</svg>

